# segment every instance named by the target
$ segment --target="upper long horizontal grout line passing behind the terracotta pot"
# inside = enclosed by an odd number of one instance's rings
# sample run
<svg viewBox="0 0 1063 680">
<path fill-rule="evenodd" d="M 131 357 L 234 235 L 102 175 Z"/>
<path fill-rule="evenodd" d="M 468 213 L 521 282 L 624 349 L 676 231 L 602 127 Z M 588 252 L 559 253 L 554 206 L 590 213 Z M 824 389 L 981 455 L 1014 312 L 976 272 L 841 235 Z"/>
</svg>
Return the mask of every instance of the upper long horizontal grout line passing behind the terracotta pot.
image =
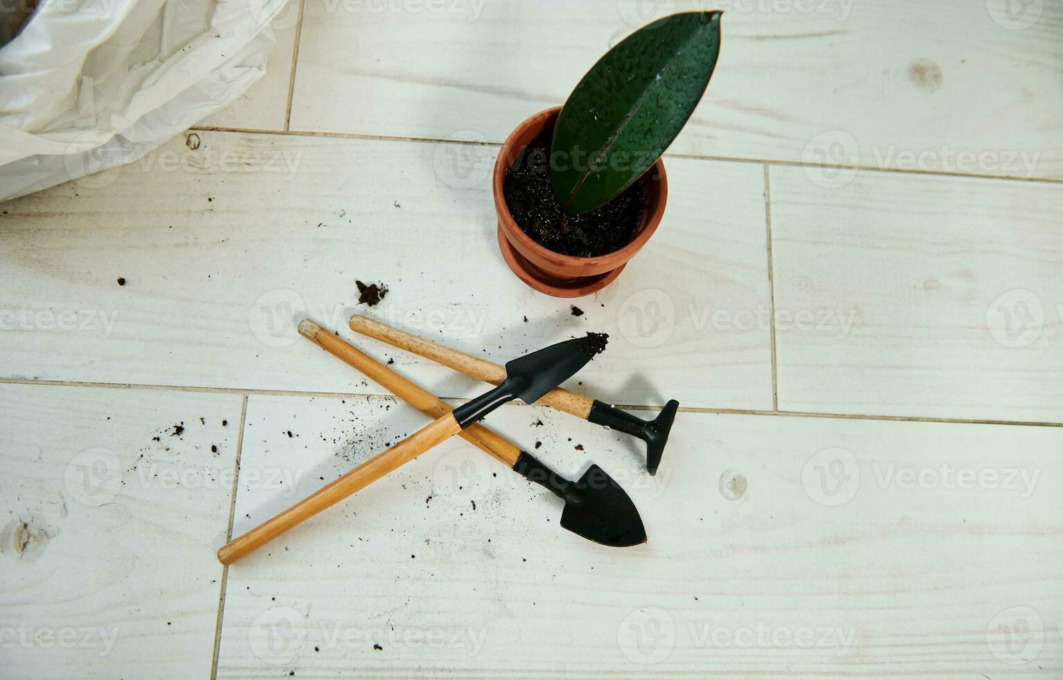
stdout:
<svg viewBox="0 0 1063 680">
<path fill-rule="evenodd" d="M 291 93 L 289 93 L 290 98 Z M 357 132 L 326 132 L 315 130 L 290 130 L 285 121 L 285 130 L 258 130 L 254 128 L 234 128 L 226 126 L 192 126 L 197 132 L 239 132 L 247 134 L 274 134 L 297 137 L 326 137 L 333 139 L 375 139 L 381 142 L 421 142 L 437 144 L 460 144 L 466 146 L 501 147 L 501 142 L 484 142 L 478 139 L 445 139 L 442 137 L 422 137 L 407 135 L 366 134 Z M 867 165 L 844 165 L 833 163 L 803 163 L 800 161 L 783 161 L 767 159 L 748 159 L 743 156 L 709 155 L 701 153 L 665 153 L 667 159 L 690 159 L 694 161 L 721 161 L 724 163 L 755 163 L 757 165 L 776 165 L 780 167 L 814 167 L 834 170 L 857 170 L 863 172 L 890 172 L 892 175 L 923 175 L 929 177 L 957 177 L 975 180 L 1001 180 L 1005 182 L 1032 182 L 1034 184 L 1063 184 L 1063 178 L 1017 177 L 1010 175 L 986 175 L 984 172 L 949 172 L 947 170 L 919 170 L 904 168 L 872 167 Z"/>
</svg>

